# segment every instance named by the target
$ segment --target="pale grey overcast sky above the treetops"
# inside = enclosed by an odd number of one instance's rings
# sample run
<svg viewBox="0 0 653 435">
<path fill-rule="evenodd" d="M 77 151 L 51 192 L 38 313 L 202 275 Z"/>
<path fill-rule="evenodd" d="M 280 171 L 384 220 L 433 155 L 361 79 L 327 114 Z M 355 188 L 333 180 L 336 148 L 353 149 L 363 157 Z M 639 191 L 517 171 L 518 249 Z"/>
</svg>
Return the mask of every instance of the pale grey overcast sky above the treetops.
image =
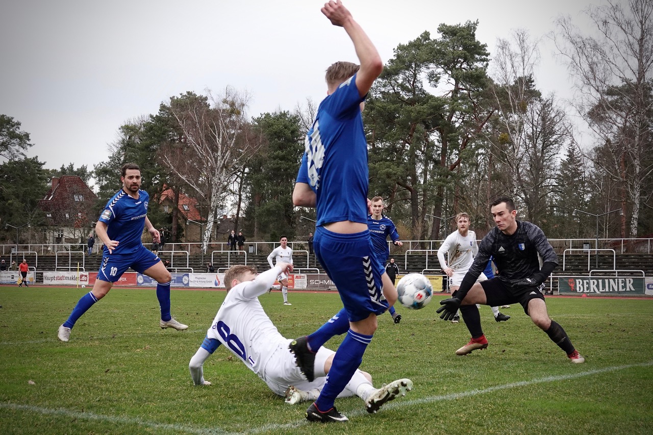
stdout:
<svg viewBox="0 0 653 435">
<path fill-rule="evenodd" d="M 441 23 L 479 20 L 490 52 L 498 37 L 541 37 L 558 14 L 581 23 L 588 0 L 345 0 L 383 61 Z M 596 3 L 596 2 L 594 2 Z M 324 71 L 357 62 L 324 1 L 5 0 L 0 4 L 0 113 L 22 123 L 46 168 L 93 165 L 126 121 L 155 114 L 172 95 L 251 94 L 249 115 L 293 110 L 326 95 Z M 541 45 L 537 86 L 571 94 L 564 66 Z"/>
</svg>

